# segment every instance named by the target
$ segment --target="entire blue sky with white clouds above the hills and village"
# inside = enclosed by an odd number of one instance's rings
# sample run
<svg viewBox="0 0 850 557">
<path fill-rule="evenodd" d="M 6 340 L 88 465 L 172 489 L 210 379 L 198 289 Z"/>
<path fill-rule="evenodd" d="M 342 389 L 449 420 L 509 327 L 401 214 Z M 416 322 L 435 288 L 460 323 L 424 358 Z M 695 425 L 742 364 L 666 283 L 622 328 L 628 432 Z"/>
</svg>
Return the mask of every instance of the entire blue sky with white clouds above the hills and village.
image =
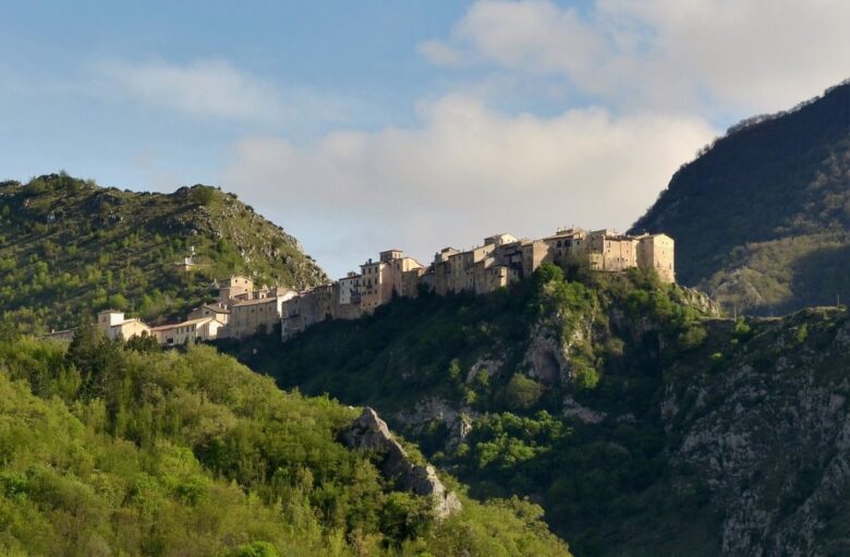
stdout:
<svg viewBox="0 0 850 557">
<path fill-rule="evenodd" d="M 626 230 L 850 77 L 847 0 L 0 0 L 0 179 L 236 193 L 332 277 Z"/>
</svg>

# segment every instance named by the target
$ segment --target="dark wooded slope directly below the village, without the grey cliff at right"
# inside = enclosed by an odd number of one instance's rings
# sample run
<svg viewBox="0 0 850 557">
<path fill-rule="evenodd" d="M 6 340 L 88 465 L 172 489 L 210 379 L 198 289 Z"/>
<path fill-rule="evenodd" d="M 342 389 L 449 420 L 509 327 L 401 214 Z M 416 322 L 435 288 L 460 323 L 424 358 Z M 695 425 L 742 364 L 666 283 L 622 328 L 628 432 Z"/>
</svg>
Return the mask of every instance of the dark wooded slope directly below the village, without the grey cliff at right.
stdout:
<svg viewBox="0 0 850 557">
<path fill-rule="evenodd" d="M 489 296 L 399 299 L 286 343 L 220 347 L 282 386 L 376 405 L 474 495 L 532 496 L 579 555 L 595 555 L 624 547 L 633 532 L 617 524 L 646 517 L 646 493 L 666 472 L 664 370 L 683 355 L 709 364 L 706 327 L 716 325 L 692 302 L 703 300 L 636 269 L 564 277 L 544 265 Z M 542 339 L 564 347 L 567 370 L 529 358 Z M 464 413 L 470 433 L 436 415 L 411 419 L 428 400 Z M 627 417 L 588 423 L 566 411 L 575 403 Z M 659 500 L 679 511 L 701 504 Z"/>
</svg>

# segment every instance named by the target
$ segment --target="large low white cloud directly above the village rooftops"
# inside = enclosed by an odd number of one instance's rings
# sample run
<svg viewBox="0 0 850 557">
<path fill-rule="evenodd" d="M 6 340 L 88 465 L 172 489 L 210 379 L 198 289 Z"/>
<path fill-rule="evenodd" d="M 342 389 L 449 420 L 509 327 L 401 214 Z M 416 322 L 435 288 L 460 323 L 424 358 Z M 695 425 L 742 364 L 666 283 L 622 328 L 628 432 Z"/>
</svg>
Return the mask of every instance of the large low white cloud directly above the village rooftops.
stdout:
<svg viewBox="0 0 850 557">
<path fill-rule="evenodd" d="M 692 118 L 505 116 L 457 96 L 423 116 L 416 129 L 340 131 L 305 147 L 245 140 L 223 185 L 264 203 L 340 274 L 390 244 L 429 261 L 498 231 L 624 229 L 713 135 Z"/>
</svg>

